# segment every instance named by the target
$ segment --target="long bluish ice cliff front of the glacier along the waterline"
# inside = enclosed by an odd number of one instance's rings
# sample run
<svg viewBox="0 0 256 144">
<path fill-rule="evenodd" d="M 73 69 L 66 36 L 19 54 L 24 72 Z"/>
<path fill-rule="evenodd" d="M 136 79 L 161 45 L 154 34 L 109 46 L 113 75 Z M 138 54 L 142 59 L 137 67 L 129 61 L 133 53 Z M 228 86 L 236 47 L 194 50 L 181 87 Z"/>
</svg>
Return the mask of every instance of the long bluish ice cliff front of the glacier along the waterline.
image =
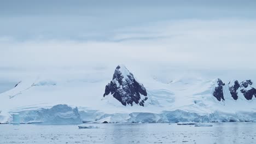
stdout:
<svg viewBox="0 0 256 144">
<path fill-rule="evenodd" d="M 24 124 L 82 124 L 82 123 L 210 123 L 210 122 L 256 122 L 256 112 L 196 113 L 183 110 L 163 111 L 161 113 L 94 113 L 72 109 L 67 105 L 56 105 L 50 109 L 16 111 Z M 13 113 L 13 112 L 10 112 Z M 86 115 L 86 116 L 85 116 Z M 9 122 L 11 123 L 11 119 Z"/>
</svg>

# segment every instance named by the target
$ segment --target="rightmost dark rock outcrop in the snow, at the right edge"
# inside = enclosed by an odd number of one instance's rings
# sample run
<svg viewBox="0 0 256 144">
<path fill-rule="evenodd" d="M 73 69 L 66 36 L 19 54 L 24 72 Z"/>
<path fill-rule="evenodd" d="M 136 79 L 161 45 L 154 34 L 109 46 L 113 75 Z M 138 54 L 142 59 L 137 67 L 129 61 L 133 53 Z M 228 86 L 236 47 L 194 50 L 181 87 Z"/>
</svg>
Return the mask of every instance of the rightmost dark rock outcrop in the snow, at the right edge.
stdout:
<svg viewBox="0 0 256 144">
<path fill-rule="evenodd" d="M 256 89 L 252 87 L 253 82 L 251 80 L 246 80 L 241 82 L 241 93 L 245 96 L 247 100 L 251 100 L 254 97 L 256 98 Z"/>
</svg>

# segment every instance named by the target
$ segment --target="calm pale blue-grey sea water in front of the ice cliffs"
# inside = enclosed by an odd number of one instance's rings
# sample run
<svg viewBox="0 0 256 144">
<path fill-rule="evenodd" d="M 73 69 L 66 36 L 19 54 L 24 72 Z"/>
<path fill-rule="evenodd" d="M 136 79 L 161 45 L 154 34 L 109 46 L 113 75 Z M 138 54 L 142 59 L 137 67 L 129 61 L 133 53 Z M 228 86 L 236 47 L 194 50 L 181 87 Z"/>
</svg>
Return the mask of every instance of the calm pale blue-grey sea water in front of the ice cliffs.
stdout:
<svg viewBox="0 0 256 144">
<path fill-rule="evenodd" d="M 256 123 L 194 127 L 167 123 L 78 125 L 0 124 L 0 143 L 256 143 Z"/>
</svg>

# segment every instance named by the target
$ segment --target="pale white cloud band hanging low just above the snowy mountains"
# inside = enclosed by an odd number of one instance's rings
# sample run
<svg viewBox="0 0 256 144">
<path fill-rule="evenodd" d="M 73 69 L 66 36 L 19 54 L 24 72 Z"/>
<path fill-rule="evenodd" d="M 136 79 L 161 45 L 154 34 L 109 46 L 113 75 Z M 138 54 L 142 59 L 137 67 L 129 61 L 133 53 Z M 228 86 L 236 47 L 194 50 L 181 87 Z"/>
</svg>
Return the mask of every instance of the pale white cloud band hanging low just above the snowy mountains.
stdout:
<svg viewBox="0 0 256 144">
<path fill-rule="evenodd" d="M 254 69 L 256 21 L 181 20 L 117 29 L 108 40 L 1 39 L 2 67 L 79 67 L 88 63 L 167 63 Z"/>
</svg>

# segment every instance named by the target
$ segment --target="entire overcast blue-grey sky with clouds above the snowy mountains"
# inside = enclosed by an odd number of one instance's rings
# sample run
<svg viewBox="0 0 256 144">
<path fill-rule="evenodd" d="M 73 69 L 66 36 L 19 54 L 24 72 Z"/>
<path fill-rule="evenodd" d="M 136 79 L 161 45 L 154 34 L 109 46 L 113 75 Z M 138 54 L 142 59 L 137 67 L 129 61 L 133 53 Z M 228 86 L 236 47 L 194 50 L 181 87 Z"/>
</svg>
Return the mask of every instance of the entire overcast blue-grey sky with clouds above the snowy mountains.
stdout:
<svg viewBox="0 0 256 144">
<path fill-rule="evenodd" d="M 0 0 L 0 86 L 43 70 L 119 63 L 252 73 L 255 8 L 237 0 Z"/>
</svg>

